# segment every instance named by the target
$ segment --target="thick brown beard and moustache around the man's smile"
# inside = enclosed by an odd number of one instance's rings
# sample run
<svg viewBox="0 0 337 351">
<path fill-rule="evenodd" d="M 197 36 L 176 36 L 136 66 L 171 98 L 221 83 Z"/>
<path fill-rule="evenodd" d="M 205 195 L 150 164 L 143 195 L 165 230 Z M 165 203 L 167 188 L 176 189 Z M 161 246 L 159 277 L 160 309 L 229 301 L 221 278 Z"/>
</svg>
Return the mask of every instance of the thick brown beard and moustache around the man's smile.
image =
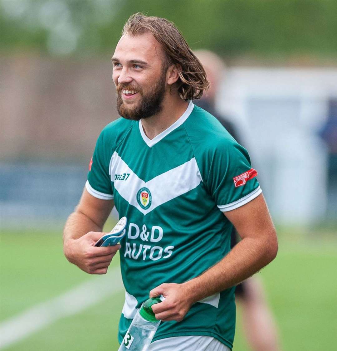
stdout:
<svg viewBox="0 0 337 351">
<path fill-rule="evenodd" d="M 163 73 L 147 94 L 144 94 L 140 88 L 119 84 L 117 86 L 117 110 L 119 115 L 125 119 L 139 121 L 142 118 L 148 118 L 161 112 L 165 95 L 165 77 L 166 74 Z M 140 94 L 140 101 L 136 106 L 128 107 L 124 103 L 121 95 L 122 89 L 137 91 Z"/>
</svg>

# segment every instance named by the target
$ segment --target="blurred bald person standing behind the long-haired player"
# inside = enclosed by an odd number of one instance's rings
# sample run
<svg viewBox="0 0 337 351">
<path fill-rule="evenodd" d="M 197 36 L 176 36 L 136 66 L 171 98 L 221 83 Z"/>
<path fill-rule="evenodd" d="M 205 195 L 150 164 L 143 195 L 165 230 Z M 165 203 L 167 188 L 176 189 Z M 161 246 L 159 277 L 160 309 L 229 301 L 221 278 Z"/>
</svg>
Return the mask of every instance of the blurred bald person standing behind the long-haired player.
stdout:
<svg viewBox="0 0 337 351">
<path fill-rule="evenodd" d="M 226 66 L 223 60 L 209 50 L 194 51 L 203 65 L 210 87 L 196 105 L 216 117 L 232 137 L 242 145 L 235 126 L 216 110 L 216 96 L 220 83 L 225 79 Z M 238 234 L 233 227 L 231 248 L 238 243 Z M 248 278 L 238 284 L 235 290 L 236 301 L 242 307 L 242 321 L 249 345 L 254 351 L 279 351 L 276 325 L 267 305 L 264 289 L 258 277 Z"/>
</svg>

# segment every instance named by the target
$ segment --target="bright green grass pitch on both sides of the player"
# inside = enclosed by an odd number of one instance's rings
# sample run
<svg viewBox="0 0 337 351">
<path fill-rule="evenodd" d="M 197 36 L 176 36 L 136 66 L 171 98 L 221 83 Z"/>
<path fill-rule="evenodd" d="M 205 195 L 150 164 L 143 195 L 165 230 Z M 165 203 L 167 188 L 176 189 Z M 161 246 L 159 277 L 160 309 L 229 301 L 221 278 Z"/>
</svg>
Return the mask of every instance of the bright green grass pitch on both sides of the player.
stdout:
<svg viewBox="0 0 337 351">
<path fill-rule="evenodd" d="M 283 350 L 336 350 L 336 241 L 292 234 L 281 236 L 278 257 L 258 273 L 277 320 Z M 1 231 L 0 239 L 0 322 L 92 279 L 63 256 L 61 230 Z M 118 264 L 115 257 L 111 266 Z M 116 293 L 3 350 L 117 350 L 123 302 L 124 292 Z M 249 351 L 240 318 L 238 310 L 233 350 Z"/>
</svg>

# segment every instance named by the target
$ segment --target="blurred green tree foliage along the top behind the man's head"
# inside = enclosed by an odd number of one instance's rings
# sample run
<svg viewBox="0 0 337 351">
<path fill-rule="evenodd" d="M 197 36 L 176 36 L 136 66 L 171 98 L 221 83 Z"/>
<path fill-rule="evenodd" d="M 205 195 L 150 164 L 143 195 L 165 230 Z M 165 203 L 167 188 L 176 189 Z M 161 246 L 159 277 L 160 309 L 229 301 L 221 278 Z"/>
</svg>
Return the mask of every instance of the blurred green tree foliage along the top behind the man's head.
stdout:
<svg viewBox="0 0 337 351">
<path fill-rule="evenodd" d="M 1 51 L 111 53 L 138 11 L 228 58 L 337 56 L 336 0 L 0 0 Z"/>
</svg>

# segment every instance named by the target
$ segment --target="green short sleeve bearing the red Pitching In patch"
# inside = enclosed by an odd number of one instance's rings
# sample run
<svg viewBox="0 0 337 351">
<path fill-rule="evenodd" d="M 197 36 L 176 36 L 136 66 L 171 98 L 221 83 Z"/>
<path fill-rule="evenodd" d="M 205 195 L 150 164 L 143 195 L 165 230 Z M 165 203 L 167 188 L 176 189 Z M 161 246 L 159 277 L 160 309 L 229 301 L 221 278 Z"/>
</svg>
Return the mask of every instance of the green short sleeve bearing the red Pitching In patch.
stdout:
<svg viewBox="0 0 337 351">
<path fill-rule="evenodd" d="M 214 149 L 207 185 L 222 212 L 231 211 L 255 199 L 261 192 L 247 150 L 226 139 Z"/>
</svg>

